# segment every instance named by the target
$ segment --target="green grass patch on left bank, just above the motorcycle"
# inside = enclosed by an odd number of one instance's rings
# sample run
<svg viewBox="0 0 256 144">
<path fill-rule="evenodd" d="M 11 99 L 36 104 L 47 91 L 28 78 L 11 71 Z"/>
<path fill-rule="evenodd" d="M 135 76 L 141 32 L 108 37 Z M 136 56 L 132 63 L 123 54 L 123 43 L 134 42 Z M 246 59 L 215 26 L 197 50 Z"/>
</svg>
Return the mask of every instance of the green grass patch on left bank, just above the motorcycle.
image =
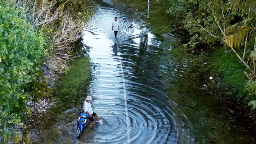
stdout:
<svg viewBox="0 0 256 144">
<path fill-rule="evenodd" d="M 72 63 L 67 75 L 60 78 L 55 96 L 65 105 L 65 109 L 81 103 L 86 91 L 86 83 L 90 78 L 90 59 L 82 57 Z"/>
</svg>

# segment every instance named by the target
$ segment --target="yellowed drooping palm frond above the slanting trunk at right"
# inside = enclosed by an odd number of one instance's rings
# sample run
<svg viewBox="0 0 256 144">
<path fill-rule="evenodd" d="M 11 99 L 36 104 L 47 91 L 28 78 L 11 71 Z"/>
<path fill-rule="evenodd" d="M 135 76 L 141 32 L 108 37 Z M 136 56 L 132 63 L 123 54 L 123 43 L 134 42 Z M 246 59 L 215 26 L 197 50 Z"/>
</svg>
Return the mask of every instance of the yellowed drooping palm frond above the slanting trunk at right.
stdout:
<svg viewBox="0 0 256 144">
<path fill-rule="evenodd" d="M 237 46 L 243 45 L 246 39 L 246 35 L 253 30 L 254 27 L 238 27 L 238 32 L 234 35 L 227 35 L 224 37 L 224 43 L 235 48 Z"/>
</svg>

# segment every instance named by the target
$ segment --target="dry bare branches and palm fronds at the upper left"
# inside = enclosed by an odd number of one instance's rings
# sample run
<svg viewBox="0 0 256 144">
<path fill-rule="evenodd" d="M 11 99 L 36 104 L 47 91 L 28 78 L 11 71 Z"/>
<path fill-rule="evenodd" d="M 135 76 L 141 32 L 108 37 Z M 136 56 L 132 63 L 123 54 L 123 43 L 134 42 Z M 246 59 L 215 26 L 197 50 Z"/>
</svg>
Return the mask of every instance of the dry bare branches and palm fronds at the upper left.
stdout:
<svg viewBox="0 0 256 144">
<path fill-rule="evenodd" d="M 53 47 L 46 63 L 53 64 L 62 72 L 66 62 L 75 57 L 72 52 L 82 37 L 86 23 L 96 9 L 94 0 L 15 0 L 17 7 L 26 13 L 26 21 L 36 32 L 48 31 L 49 43 Z"/>
</svg>

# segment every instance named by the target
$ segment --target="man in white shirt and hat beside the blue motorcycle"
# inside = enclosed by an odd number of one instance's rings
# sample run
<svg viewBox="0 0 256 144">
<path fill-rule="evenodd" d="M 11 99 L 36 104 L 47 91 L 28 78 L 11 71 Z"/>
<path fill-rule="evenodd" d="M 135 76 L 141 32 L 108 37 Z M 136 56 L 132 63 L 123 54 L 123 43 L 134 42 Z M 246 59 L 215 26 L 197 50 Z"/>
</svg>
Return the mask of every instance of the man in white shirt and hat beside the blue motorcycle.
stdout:
<svg viewBox="0 0 256 144">
<path fill-rule="evenodd" d="M 85 102 L 84 102 L 84 113 L 86 113 L 88 116 L 90 116 L 88 119 L 91 121 L 91 125 L 93 125 L 93 129 L 94 129 L 94 119 L 93 117 L 96 118 L 97 121 L 99 121 L 98 116 L 95 112 L 93 112 L 93 109 L 91 108 L 91 100 L 93 98 L 91 98 L 90 95 L 88 95 L 85 98 Z"/>
</svg>

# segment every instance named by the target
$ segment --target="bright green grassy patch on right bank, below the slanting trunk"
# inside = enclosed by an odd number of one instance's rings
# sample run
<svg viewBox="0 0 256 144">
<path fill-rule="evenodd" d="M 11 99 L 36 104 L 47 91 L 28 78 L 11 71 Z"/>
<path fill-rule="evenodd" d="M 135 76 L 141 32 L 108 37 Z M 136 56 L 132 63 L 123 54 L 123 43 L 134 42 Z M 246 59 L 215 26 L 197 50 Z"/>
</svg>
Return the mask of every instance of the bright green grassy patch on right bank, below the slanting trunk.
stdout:
<svg viewBox="0 0 256 144">
<path fill-rule="evenodd" d="M 216 48 L 210 61 L 212 73 L 220 77 L 220 89 L 224 95 L 244 100 L 247 96 L 244 91 L 247 78 L 242 73 L 246 69 L 236 55 L 230 51 L 224 52 L 223 48 Z"/>
</svg>

